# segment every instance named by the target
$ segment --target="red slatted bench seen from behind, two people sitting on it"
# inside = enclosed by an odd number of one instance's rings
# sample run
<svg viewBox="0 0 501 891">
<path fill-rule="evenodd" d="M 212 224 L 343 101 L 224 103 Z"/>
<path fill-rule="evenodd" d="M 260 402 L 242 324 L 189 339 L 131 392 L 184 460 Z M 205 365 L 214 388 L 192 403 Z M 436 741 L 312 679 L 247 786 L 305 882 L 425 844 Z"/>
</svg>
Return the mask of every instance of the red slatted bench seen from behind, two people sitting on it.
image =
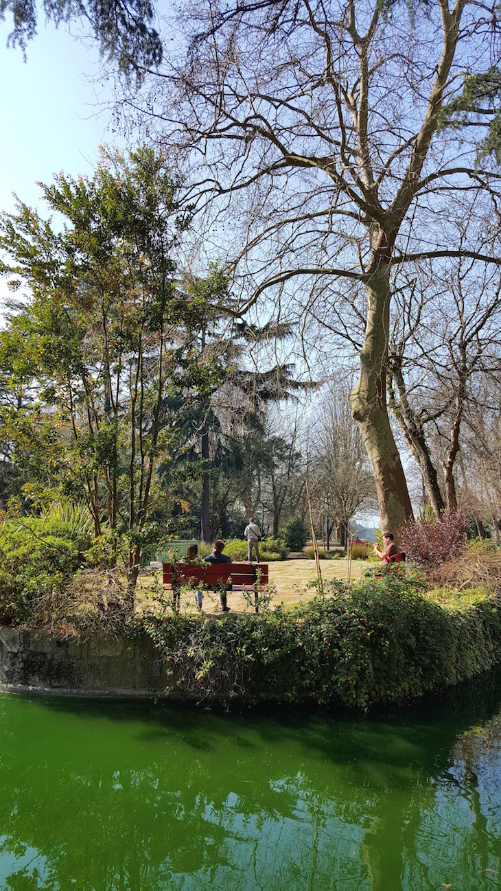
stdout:
<svg viewBox="0 0 501 891">
<path fill-rule="evenodd" d="M 164 587 L 174 592 L 177 609 L 178 590 L 183 584 L 232 591 L 253 591 L 256 612 L 259 612 L 259 591 L 268 582 L 267 563 L 164 563 Z M 221 601 L 223 602 L 222 595 Z"/>
</svg>

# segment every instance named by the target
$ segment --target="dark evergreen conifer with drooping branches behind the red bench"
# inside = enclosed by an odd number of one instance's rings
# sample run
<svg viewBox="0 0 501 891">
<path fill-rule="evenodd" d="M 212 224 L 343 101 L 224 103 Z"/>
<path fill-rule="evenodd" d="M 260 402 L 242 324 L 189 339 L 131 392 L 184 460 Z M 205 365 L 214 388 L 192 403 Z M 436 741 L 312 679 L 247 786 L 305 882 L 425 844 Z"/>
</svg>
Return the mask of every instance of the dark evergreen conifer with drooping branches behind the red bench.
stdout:
<svg viewBox="0 0 501 891">
<path fill-rule="evenodd" d="M 269 364 L 266 345 L 289 336 L 289 325 L 259 326 L 232 317 L 226 269 L 215 265 L 205 278 L 187 275 L 181 287 L 193 307 L 185 318 L 186 337 L 204 367 L 217 361 L 225 372 L 213 375 L 186 403 L 182 469 L 170 475 L 168 486 L 175 477 L 185 478 L 186 486 L 198 483 L 200 491 L 195 495 L 192 489 L 192 499 L 200 503 L 199 531 L 203 541 L 211 541 L 226 527 L 230 506 L 242 502 L 249 516 L 261 503 L 261 483 L 275 460 L 268 444 L 267 405 L 311 385 L 294 379 L 292 365 Z M 275 506 L 282 499 L 282 489 L 275 491 Z"/>
</svg>

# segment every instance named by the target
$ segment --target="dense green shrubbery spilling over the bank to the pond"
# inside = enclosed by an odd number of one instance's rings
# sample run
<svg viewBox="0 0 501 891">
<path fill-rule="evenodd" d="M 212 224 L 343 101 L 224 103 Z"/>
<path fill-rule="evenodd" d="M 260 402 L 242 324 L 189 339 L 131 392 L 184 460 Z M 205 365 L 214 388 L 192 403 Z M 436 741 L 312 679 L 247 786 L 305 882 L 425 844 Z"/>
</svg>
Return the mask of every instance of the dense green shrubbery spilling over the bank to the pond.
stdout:
<svg viewBox="0 0 501 891">
<path fill-rule="evenodd" d="M 422 576 L 388 569 L 351 586 L 330 582 L 327 596 L 292 610 L 150 618 L 146 627 L 171 689 L 224 703 L 369 707 L 457 683 L 501 658 L 492 601 L 448 609 L 426 599 Z"/>
</svg>

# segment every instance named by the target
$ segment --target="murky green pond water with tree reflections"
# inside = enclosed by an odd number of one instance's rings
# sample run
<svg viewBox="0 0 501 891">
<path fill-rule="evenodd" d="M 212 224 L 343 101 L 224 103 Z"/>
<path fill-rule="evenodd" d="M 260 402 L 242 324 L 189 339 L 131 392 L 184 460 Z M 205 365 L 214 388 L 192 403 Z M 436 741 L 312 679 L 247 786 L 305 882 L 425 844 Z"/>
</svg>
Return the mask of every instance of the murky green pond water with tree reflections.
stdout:
<svg viewBox="0 0 501 891">
<path fill-rule="evenodd" d="M 501 887 L 501 683 L 379 716 L 0 696 L 0 888 Z"/>
</svg>

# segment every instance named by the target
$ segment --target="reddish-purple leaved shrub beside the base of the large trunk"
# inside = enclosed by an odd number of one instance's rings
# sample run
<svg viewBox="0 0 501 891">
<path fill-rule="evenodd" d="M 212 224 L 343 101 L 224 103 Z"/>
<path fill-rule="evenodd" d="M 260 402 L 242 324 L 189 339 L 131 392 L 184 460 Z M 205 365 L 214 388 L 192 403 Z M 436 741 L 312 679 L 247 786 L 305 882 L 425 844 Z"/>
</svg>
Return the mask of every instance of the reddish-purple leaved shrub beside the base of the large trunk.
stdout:
<svg viewBox="0 0 501 891">
<path fill-rule="evenodd" d="M 409 519 L 398 530 L 402 551 L 424 569 L 452 560 L 466 547 L 468 518 L 464 511 L 446 511 L 440 519 Z"/>
</svg>

